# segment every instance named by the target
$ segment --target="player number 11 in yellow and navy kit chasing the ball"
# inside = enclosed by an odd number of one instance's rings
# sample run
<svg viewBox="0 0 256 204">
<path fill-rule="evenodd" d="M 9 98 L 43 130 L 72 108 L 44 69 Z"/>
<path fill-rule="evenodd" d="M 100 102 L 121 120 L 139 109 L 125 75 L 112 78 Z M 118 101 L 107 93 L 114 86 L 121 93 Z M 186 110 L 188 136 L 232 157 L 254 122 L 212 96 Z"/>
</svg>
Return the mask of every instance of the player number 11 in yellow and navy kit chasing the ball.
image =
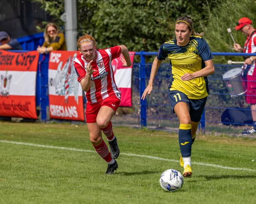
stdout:
<svg viewBox="0 0 256 204">
<path fill-rule="evenodd" d="M 180 120 L 180 165 L 183 176 L 191 177 L 191 146 L 209 93 L 207 76 L 214 73 L 212 53 L 206 41 L 193 31 L 190 17 L 180 17 L 175 24 L 175 39 L 163 43 L 153 61 L 148 86 L 141 99 L 153 90 L 155 74 L 162 60 L 170 59 L 171 78 L 168 98 L 173 113 Z"/>
</svg>

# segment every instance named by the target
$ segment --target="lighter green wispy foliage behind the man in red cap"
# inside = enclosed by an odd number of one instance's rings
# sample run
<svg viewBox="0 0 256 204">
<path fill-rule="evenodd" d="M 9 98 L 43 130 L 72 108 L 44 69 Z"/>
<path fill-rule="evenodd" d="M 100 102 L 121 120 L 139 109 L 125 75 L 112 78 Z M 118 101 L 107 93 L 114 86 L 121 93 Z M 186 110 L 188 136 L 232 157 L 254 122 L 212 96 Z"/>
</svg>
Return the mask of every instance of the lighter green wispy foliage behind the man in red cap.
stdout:
<svg viewBox="0 0 256 204">
<path fill-rule="evenodd" d="M 256 23 L 256 1 L 255 0 L 227 0 L 208 9 L 209 22 L 204 27 L 206 33 L 205 38 L 212 52 L 235 52 L 233 49 L 233 40 L 227 32 L 231 28 L 231 34 L 234 36 L 236 43 L 242 47 L 246 40 L 241 32 L 235 31 L 236 22 L 241 17 L 248 17 L 253 23 Z M 255 26 L 254 26 L 255 27 Z M 226 57 L 217 57 L 215 62 L 226 62 Z M 242 57 L 229 57 L 231 60 L 243 60 Z"/>
</svg>

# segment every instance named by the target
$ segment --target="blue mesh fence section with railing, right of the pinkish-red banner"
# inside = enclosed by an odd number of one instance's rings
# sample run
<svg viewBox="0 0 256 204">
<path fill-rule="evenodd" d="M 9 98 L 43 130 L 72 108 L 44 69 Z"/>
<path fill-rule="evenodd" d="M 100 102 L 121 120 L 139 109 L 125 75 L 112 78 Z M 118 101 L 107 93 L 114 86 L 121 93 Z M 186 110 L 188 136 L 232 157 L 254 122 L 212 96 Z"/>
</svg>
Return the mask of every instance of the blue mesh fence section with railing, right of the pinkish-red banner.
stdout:
<svg viewBox="0 0 256 204">
<path fill-rule="evenodd" d="M 256 54 L 247 53 L 212 53 L 214 56 L 256 56 Z M 140 97 L 148 84 L 150 75 L 151 63 L 146 63 L 146 56 L 156 56 L 156 52 L 136 52 L 135 55 L 140 55 L 140 63 L 133 65 L 133 110 L 124 115 L 124 123 L 139 122 L 140 126 L 155 126 L 158 127 L 177 127 L 178 121 L 175 114 L 171 113 L 169 100 L 167 98 L 167 87 L 170 81 L 170 65 L 162 64 L 155 77 L 154 89 L 150 97 L 141 100 Z M 202 132 L 214 132 L 217 134 L 230 134 L 230 127 L 236 127 L 231 132 L 239 134 L 241 128 L 245 125 L 251 125 L 251 112 L 248 109 L 249 104 L 245 102 L 245 93 L 232 92 L 228 87 L 227 82 L 233 82 L 233 89 L 241 89 L 241 84 L 245 80 L 238 76 L 231 76 L 232 79 L 224 78 L 224 74 L 229 70 L 239 68 L 242 64 L 215 64 L 215 73 L 208 77 L 210 94 L 208 96 L 205 112 L 199 124 L 199 130 Z M 169 77 L 169 78 L 168 78 Z M 256 82 L 255 82 L 256 83 Z M 236 87 L 237 85 L 237 87 Z M 156 89 L 155 89 L 156 87 Z M 136 96 L 139 94 L 139 97 Z M 134 99 L 135 98 L 135 99 Z M 129 112 L 129 111 L 128 111 Z M 243 115 L 242 122 L 232 120 L 231 113 Z M 139 114 L 138 114 L 139 113 Z M 127 120 L 130 117 L 131 120 Z M 137 118 L 137 120 L 134 120 Z M 139 121 L 138 121 L 139 120 Z M 148 121 L 149 120 L 149 121 Z M 206 127 L 207 125 L 207 127 Z M 222 128 L 224 131 L 222 131 Z M 228 130 L 227 130 L 228 129 Z"/>
</svg>

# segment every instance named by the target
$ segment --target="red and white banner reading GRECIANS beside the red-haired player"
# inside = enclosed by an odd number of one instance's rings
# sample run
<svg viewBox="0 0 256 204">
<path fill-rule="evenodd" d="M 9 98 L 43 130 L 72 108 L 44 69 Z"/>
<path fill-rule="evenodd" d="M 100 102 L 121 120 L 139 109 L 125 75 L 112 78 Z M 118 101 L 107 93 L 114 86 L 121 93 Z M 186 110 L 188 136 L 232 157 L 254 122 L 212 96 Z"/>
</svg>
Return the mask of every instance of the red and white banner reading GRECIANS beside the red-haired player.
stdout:
<svg viewBox="0 0 256 204">
<path fill-rule="evenodd" d="M 52 51 L 49 56 L 50 118 L 84 121 L 83 90 L 74 69 L 77 51 Z"/>
</svg>

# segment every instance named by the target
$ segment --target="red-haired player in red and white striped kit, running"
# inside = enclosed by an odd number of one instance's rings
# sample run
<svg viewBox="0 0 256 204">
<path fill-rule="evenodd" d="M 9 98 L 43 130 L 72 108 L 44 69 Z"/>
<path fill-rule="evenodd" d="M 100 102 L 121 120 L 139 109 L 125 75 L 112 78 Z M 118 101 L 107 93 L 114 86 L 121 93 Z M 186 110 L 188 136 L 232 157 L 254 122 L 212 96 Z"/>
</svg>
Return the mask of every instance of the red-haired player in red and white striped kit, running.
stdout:
<svg viewBox="0 0 256 204">
<path fill-rule="evenodd" d="M 113 134 L 111 118 L 120 104 L 121 95 L 114 79 L 111 61 L 121 53 L 125 59 L 123 66 L 130 67 L 131 61 L 126 46 L 114 46 L 97 50 L 95 39 L 85 34 L 77 41 L 81 53 L 74 60 L 77 80 L 86 92 L 86 123 L 90 140 L 96 152 L 108 163 L 106 174 L 113 174 L 118 168 L 116 158 L 119 148 Z M 110 147 L 102 139 L 106 135 Z"/>
</svg>

